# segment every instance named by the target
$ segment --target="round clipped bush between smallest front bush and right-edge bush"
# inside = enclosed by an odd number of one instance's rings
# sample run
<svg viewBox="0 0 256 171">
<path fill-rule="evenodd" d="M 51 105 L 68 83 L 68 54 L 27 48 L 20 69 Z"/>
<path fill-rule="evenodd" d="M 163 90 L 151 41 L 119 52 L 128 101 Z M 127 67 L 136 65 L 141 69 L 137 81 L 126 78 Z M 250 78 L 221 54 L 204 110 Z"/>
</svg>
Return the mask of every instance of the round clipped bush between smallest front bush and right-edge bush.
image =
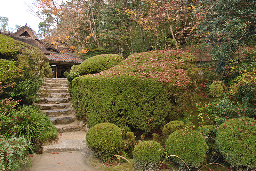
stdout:
<svg viewBox="0 0 256 171">
<path fill-rule="evenodd" d="M 176 130 L 165 142 L 168 155 L 180 157 L 189 167 L 199 167 L 206 161 L 204 137 L 195 130 Z M 182 167 L 186 167 L 179 158 L 173 157 Z"/>
</svg>

